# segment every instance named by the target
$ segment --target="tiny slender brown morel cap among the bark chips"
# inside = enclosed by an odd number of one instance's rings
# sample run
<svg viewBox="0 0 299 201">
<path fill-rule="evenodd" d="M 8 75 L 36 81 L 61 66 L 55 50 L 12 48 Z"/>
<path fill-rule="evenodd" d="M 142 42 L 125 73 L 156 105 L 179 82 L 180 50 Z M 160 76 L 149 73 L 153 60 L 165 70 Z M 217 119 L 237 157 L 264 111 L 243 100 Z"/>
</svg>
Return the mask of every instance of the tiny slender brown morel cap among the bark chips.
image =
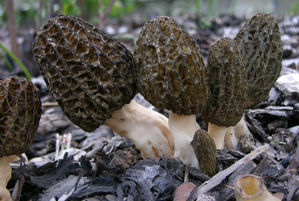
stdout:
<svg viewBox="0 0 299 201">
<path fill-rule="evenodd" d="M 192 145 L 200 170 L 208 176 L 216 174 L 217 150 L 214 140 L 207 131 L 199 129 L 193 136 Z"/>
</svg>

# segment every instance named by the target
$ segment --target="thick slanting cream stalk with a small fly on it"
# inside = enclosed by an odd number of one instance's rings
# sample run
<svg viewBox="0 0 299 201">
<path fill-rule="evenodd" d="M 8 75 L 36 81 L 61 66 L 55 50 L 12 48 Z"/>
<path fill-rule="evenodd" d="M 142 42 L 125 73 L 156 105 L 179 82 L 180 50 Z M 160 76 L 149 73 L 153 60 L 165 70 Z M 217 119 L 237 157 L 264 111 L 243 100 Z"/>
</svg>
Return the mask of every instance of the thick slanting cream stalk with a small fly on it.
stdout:
<svg viewBox="0 0 299 201">
<path fill-rule="evenodd" d="M 173 156 L 173 138 L 167 117 L 135 100 L 114 111 L 105 124 L 115 133 L 131 139 L 143 158 Z"/>
</svg>

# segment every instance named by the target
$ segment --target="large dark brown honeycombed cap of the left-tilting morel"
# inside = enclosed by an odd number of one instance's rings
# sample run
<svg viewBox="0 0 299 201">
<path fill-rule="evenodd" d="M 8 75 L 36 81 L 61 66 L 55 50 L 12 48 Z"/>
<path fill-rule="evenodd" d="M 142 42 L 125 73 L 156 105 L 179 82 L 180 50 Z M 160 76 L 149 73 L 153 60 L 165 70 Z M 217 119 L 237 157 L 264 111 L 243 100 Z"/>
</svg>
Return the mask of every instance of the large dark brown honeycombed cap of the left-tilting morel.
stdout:
<svg viewBox="0 0 299 201">
<path fill-rule="evenodd" d="M 33 54 L 67 117 L 92 131 L 134 98 L 132 53 L 82 19 L 60 15 L 37 33 Z"/>
</svg>

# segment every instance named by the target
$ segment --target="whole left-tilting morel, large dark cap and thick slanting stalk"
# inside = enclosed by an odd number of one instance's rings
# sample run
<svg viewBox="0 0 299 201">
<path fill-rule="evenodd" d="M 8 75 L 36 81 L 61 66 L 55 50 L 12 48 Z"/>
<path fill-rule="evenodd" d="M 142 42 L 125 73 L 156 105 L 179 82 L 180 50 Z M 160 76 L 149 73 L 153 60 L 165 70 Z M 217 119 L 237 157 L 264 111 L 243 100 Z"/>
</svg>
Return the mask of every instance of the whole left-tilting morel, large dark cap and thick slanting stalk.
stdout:
<svg viewBox="0 0 299 201">
<path fill-rule="evenodd" d="M 144 158 L 173 155 L 167 118 L 132 100 L 133 55 L 118 40 L 60 15 L 37 33 L 33 54 L 50 93 L 75 125 L 89 132 L 105 123 L 132 139 Z"/>
</svg>

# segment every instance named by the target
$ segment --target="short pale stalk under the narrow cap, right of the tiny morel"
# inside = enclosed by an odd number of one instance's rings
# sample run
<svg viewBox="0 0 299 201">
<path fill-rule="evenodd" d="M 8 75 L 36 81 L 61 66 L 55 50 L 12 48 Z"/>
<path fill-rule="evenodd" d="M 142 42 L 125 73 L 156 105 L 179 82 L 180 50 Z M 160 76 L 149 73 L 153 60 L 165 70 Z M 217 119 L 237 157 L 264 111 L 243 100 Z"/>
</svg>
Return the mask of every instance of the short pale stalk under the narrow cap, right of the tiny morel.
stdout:
<svg viewBox="0 0 299 201">
<path fill-rule="evenodd" d="M 226 132 L 226 127 L 216 126 L 214 124 L 209 123 L 208 126 L 208 134 L 213 138 L 216 149 L 224 149 L 224 136 Z"/>
</svg>

